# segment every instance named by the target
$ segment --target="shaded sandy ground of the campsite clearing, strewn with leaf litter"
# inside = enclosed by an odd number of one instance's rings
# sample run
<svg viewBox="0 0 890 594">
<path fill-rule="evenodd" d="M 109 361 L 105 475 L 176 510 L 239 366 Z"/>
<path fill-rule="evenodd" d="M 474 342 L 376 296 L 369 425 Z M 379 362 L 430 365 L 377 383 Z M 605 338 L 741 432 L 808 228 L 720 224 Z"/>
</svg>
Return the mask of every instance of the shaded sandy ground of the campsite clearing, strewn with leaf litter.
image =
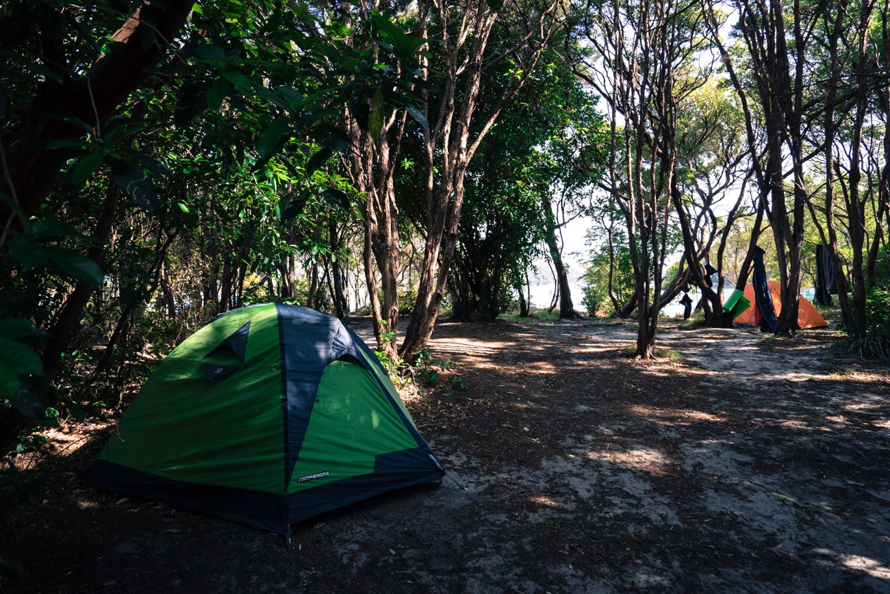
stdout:
<svg viewBox="0 0 890 594">
<path fill-rule="evenodd" d="M 109 422 L 71 424 L 4 526 L 0 590 L 890 591 L 890 370 L 836 338 L 667 323 L 644 364 L 624 323 L 442 323 L 459 366 L 405 400 L 467 489 L 329 512 L 292 551 L 87 488 Z"/>
</svg>

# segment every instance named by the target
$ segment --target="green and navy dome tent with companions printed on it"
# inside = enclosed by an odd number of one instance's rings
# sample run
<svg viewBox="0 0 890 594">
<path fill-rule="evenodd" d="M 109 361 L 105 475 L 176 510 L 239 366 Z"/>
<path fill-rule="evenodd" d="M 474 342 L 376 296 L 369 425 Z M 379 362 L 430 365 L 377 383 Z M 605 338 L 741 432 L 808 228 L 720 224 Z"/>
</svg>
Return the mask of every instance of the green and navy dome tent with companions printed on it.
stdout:
<svg viewBox="0 0 890 594">
<path fill-rule="evenodd" d="M 216 317 L 151 374 L 93 486 L 283 534 L 445 471 L 374 353 L 335 317 L 264 304 Z"/>
</svg>

